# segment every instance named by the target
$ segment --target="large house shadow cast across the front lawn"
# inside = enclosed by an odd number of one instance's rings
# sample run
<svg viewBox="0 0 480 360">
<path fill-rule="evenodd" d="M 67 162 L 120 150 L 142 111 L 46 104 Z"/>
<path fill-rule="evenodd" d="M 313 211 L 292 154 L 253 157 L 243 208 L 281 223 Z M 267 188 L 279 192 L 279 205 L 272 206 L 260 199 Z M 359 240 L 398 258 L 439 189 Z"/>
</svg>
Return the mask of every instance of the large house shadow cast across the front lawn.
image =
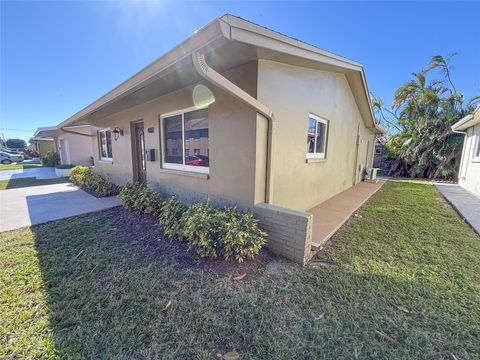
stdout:
<svg viewBox="0 0 480 360">
<path fill-rule="evenodd" d="M 365 267 L 352 254 L 320 270 L 276 260 L 232 281 L 154 225 L 116 208 L 32 227 L 62 358 L 473 359 L 480 351 L 478 287 L 424 276 L 435 261 L 410 273 L 396 272 L 388 255 Z"/>
</svg>

